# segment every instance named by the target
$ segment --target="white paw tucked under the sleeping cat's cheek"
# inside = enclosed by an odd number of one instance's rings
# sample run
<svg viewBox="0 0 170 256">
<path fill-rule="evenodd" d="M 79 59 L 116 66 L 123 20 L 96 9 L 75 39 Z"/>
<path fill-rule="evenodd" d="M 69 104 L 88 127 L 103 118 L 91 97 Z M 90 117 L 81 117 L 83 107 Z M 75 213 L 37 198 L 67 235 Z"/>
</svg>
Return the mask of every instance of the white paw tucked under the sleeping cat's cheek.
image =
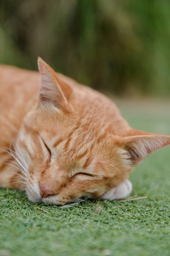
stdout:
<svg viewBox="0 0 170 256">
<path fill-rule="evenodd" d="M 132 183 L 130 180 L 125 180 L 121 182 L 118 186 L 107 191 L 104 195 L 100 197 L 102 200 L 119 200 L 126 198 L 132 191 Z"/>
</svg>

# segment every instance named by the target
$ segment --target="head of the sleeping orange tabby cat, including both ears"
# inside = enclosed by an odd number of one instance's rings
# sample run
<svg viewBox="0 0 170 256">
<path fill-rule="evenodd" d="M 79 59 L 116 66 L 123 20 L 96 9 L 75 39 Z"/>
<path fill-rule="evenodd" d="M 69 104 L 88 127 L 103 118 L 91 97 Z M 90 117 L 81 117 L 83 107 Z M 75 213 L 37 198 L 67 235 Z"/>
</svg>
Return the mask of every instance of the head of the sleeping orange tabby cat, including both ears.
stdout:
<svg viewBox="0 0 170 256">
<path fill-rule="evenodd" d="M 92 109 L 95 102 L 86 106 L 91 102 L 87 100 L 82 105 L 88 111 L 81 110 L 74 104 L 80 94 L 41 58 L 38 65 L 39 100 L 26 115 L 15 145 L 31 201 L 65 204 L 98 198 L 126 180 L 149 153 L 170 144 L 170 137 L 163 135 L 119 137 L 108 132 L 108 124 Z"/>
</svg>

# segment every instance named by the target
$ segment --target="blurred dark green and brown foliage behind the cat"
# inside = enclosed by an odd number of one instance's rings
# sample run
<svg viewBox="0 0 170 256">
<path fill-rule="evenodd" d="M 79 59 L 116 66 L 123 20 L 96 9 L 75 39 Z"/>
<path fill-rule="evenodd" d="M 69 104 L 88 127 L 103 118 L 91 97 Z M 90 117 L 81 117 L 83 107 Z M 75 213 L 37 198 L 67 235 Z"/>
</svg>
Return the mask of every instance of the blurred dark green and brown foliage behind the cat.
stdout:
<svg viewBox="0 0 170 256">
<path fill-rule="evenodd" d="M 170 97 L 169 0 L 1 0 L 0 63 L 119 96 Z"/>
</svg>

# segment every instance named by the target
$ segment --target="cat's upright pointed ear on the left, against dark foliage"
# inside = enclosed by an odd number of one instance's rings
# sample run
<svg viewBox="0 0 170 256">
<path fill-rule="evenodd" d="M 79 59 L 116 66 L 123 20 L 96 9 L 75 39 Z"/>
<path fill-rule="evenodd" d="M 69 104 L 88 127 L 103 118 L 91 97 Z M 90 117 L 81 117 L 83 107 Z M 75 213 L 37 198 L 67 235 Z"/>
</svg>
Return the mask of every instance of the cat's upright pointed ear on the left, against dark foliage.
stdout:
<svg viewBox="0 0 170 256">
<path fill-rule="evenodd" d="M 38 58 L 38 69 L 40 72 L 40 102 L 50 103 L 56 108 L 64 109 L 67 99 L 57 82 L 54 70 L 40 57 Z"/>
</svg>

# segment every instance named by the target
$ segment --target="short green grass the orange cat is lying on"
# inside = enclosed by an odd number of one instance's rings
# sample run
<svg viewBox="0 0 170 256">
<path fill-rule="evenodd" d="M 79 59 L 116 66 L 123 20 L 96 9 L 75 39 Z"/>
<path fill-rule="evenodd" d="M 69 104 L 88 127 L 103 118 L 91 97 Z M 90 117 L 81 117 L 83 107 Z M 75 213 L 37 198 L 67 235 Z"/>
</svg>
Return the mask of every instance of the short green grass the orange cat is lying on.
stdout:
<svg viewBox="0 0 170 256">
<path fill-rule="evenodd" d="M 170 105 L 162 105 L 141 110 L 119 103 L 135 128 L 170 134 Z M 136 201 L 87 200 L 61 208 L 0 189 L 0 256 L 169 256 L 169 156 L 170 147 L 163 148 L 135 168 L 131 196 L 147 196 Z"/>
</svg>

